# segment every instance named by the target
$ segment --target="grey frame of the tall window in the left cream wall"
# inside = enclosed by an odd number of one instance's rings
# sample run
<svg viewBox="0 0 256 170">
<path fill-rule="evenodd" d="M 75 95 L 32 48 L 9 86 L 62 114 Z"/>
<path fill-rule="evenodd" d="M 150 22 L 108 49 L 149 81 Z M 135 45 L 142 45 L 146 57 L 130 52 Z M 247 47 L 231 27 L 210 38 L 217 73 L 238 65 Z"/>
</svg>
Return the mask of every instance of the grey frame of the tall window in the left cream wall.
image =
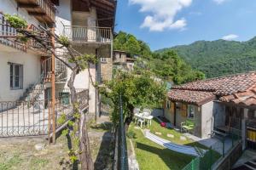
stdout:
<svg viewBox="0 0 256 170">
<path fill-rule="evenodd" d="M 15 71 L 18 66 L 19 68 L 19 75 L 15 75 Z M 15 86 L 16 77 L 19 78 L 19 86 Z M 20 90 L 23 89 L 23 65 L 17 64 L 17 63 L 9 63 L 9 88 L 11 90 Z"/>
</svg>

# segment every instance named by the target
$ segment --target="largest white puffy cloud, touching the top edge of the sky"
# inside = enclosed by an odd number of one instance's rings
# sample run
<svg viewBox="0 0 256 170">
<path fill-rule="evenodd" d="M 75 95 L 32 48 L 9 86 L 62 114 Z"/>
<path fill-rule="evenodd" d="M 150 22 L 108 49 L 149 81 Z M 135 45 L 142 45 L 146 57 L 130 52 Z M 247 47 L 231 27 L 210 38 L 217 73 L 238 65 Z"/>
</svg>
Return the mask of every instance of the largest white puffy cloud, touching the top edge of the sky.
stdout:
<svg viewBox="0 0 256 170">
<path fill-rule="evenodd" d="M 183 30 L 187 26 L 184 18 L 178 20 L 174 18 L 180 10 L 189 7 L 192 0 L 129 0 L 129 2 L 141 5 L 140 12 L 148 14 L 142 28 L 149 28 L 149 31 L 164 31 Z"/>
</svg>

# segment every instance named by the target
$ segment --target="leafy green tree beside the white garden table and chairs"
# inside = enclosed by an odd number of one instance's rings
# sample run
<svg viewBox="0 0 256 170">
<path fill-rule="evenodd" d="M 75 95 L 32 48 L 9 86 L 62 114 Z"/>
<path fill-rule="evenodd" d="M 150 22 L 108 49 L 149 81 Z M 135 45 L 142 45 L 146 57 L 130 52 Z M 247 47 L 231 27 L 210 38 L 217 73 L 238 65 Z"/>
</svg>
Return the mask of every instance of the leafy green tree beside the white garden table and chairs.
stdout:
<svg viewBox="0 0 256 170">
<path fill-rule="evenodd" d="M 101 93 L 112 100 L 112 121 L 118 122 L 119 95 L 122 95 L 123 111 L 125 113 L 125 127 L 130 125 L 135 107 L 159 107 L 166 99 L 166 88 L 163 82 L 157 82 L 150 74 L 143 72 L 141 75 L 119 71 L 112 81 L 101 89 Z"/>
</svg>

